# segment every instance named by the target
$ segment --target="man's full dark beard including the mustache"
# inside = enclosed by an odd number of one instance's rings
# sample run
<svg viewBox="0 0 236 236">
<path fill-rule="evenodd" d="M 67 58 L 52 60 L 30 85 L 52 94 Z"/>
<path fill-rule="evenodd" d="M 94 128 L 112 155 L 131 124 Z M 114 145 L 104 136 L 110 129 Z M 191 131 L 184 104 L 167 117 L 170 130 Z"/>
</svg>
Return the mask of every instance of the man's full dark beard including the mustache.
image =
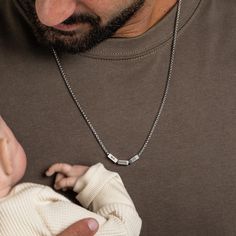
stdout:
<svg viewBox="0 0 236 236">
<path fill-rule="evenodd" d="M 79 29 L 62 31 L 43 25 L 38 19 L 34 2 L 33 0 L 19 0 L 31 23 L 37 41 L 60 52 L 76 54 L 86 52 L 102 41 L 112 37 L 117 30 L 124 26 L 142 8 L 145 0 L 135 0 L 130 6 L 113 16 L 104 26 L 101 25 L 100 16 L 82 13 L 72 15 L 62 22 L 64 25 L 87 24 L 89 28 L 86 32 Z"/>
</svg>

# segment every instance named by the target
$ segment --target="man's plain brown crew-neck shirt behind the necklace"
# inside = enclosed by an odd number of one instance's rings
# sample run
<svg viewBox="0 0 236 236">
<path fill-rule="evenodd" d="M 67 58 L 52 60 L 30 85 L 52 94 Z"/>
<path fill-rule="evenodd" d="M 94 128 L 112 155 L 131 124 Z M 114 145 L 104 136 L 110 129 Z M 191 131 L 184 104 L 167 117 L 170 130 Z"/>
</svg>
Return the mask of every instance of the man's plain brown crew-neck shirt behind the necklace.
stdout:
<svg viewBox="0 0 236 236">
<path fill-rule="evenodd" d="M 0 2 L 0 114 L 26 149 L 22 181 L 51 184 L 54 162 L 117 171 L 142 236 L 236 235 L 236 3 L 184 0 L 169 96 L 134 165 L 109 161 L 81 117 L 48 48 L 16 1 Z M 60 55 L 73 90 L 109 151 L 136 154 L 160 105 L 176 8 L 140 37 Z"/>
</svg>

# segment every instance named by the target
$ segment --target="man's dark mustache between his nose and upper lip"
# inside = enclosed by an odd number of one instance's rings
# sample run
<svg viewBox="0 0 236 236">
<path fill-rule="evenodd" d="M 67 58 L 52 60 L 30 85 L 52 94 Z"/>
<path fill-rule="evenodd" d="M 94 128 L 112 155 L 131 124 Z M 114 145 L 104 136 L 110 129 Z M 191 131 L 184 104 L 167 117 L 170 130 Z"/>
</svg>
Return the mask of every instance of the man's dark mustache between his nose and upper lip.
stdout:
<svg viewBox="0 0 236 236">
<path fill-rule="evenodd" d="M 92 26 L 97 26 L 100 24 L 100 22 L 101 18 L 99 16 L 94 16 L 91 14 L 73 14 L 63 21 L 62 24 L 73 25 L 77 23 L 88 23 Z"/>
</svg>

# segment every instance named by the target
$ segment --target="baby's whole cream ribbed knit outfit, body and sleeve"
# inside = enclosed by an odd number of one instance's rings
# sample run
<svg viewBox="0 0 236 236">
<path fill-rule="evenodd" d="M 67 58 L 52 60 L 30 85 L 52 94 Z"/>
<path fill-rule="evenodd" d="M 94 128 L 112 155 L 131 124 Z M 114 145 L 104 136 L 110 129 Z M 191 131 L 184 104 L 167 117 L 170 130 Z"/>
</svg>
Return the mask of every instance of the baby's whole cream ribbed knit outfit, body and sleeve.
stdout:
<svg viewBox="0 0 236 236">
<path fill-rule="evenodd" d="M 0 235 L 57 235 L 87 217 L 99 222 L 96 235 L 139 235 L 141 219 L 117 173 L 96 164 L 78 178 L 74 191 L 79 202 L 90 210 L 44 185 L 15 186 L 0 200 Z"/>
</svg>

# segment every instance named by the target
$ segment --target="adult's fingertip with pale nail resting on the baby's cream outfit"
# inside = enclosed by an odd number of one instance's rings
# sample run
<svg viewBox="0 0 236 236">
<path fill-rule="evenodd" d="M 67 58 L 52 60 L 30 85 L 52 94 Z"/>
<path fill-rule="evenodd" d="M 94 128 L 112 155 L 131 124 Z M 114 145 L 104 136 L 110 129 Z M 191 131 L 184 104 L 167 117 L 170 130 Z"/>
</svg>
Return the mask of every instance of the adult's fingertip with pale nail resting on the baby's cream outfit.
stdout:
<svg viewBox="0 0 236 236">
<path fill-rule="evenodd" d="M 93 236 L 98 230 L 98 223 L 94 219 L 83 219 L 69 226 L 57 236 Z"/>
</svg>

